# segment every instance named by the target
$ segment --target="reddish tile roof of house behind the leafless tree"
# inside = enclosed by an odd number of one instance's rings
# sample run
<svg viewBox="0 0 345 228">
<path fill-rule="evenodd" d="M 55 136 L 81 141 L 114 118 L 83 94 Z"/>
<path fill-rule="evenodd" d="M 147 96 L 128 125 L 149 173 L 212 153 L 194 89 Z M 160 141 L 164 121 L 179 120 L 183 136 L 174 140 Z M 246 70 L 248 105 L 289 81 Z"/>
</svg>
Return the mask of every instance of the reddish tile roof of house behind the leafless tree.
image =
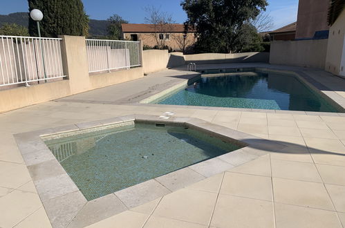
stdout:
<svg viewBox="0 0 345 228">
<path fill-rule="evenodd" d="M 122 32 L 155 32 L 153 24 L 149 23 L 122 23 Z M 171 24 L 169 32 L 185 32 L 185 26 L 180 23 Z"/>
</svg>

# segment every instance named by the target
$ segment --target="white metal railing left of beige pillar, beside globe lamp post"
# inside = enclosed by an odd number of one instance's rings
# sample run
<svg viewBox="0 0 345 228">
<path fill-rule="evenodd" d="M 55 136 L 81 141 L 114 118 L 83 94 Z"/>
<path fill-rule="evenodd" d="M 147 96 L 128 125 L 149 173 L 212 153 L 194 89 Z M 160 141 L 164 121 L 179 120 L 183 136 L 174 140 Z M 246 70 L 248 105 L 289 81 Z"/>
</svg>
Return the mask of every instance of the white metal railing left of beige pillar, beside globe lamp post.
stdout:
<svg viewBox="0 0 345 228">
<path fill-rule="evenodd" d="M 0 86 L 66 77 L 61 40 L 0 36 Z"/>
</svg>

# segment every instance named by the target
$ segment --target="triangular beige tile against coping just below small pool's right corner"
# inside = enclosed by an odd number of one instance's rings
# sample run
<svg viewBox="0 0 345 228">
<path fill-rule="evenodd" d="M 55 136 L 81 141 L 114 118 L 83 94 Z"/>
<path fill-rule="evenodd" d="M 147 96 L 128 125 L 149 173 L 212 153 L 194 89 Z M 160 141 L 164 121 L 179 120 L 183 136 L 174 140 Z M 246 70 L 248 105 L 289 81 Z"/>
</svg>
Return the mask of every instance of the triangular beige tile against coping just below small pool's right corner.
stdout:
<svg viewBox="0 0 345 228">
<path fill-rule="evenodd" d="M 270 155 L 263 155 L 256 160 L 247 162 L 229 170 L 233 173 L 271 176 Z"/>
</svg>

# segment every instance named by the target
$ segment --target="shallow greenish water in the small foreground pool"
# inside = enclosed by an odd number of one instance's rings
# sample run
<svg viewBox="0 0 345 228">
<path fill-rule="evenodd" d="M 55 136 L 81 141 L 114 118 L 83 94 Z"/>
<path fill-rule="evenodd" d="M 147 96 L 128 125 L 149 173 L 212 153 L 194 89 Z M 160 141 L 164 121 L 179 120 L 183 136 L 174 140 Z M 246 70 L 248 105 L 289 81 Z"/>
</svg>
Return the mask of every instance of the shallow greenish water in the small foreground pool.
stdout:
<svg viewBox="0 0 345 228">
<path fill-rule="evenodd" d="M 46 141 L 87 200 L 240 147 L 176 126 L 132 124 Z"/>
</svg>

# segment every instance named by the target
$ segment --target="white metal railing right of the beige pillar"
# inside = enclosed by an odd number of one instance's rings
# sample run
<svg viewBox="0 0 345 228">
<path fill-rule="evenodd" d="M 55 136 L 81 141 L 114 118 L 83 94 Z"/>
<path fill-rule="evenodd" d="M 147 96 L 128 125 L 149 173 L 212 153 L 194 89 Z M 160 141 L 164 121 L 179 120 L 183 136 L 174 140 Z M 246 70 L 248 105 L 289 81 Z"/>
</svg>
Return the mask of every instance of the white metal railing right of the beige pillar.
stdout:
<svg viewBox="0 0 345 228">
<path fill-rule="evenodd" d="M 140 42 L 86 39 L 88 72 L 140 66 Z"/>
</svg>

